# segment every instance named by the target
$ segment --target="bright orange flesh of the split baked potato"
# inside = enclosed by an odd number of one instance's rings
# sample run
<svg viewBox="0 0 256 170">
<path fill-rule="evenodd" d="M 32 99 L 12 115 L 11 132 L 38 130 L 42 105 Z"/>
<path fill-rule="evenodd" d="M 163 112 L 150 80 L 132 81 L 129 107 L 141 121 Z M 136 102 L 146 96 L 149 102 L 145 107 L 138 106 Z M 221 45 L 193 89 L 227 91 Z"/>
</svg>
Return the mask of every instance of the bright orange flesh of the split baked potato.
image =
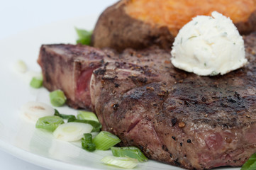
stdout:
<svg viewBox="0 0 256 170">
<path fill-rule="evenodd" d="M 131 0 L 125 8 L 132 18 L 167 26 L 174 36 L 195 16 L 218 11 L 239 23 L 247 21 L 255 9 L 256 0 Z"/>
</svg>

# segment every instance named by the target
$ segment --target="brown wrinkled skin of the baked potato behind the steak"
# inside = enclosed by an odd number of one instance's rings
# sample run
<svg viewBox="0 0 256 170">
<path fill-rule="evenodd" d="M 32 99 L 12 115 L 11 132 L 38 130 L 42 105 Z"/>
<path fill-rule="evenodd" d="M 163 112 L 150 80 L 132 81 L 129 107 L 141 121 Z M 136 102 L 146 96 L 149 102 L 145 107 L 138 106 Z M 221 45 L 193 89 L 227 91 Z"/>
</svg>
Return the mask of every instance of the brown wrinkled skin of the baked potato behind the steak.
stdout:
<svg viewBox="0 0 256 170">
<path fill-rule="evenodd" d="M 101 13 L 91 37 L 91 45 L 99 48 L 111 47 L 118 52 L 128 47 L 143 49 L 151 45 L 171 50 L 174 36 L 169 29 L 131 18 L 124 9 L 129 1 L 118 1 Z M 235 26 L 241 35 L 255 31 L 256 11 L 251 13 L 247 21 L 235 23 Z"/>
</svg>

